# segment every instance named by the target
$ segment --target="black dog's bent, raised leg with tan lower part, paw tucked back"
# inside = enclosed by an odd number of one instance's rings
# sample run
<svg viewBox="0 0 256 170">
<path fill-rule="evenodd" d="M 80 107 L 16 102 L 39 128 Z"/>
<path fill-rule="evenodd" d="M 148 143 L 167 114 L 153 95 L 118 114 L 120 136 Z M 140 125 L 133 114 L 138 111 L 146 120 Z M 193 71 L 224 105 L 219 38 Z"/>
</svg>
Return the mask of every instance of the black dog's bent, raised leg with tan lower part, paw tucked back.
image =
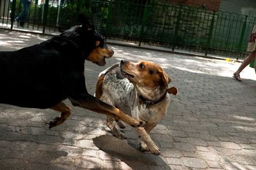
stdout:
<svg viewBox="0 0 256 170">
<path fill-rule="evenodd" d="M 55 111 L 60 111 L 61 115 L 60 117 L 56 117 L 54 118 L 54 120 L 48 123 L 49 129 L 57 125 L 63 124 L 63 122 L 71 115 L 71 108 L 62 102 L 56 104 L 51 109 Z"/>
</svg>

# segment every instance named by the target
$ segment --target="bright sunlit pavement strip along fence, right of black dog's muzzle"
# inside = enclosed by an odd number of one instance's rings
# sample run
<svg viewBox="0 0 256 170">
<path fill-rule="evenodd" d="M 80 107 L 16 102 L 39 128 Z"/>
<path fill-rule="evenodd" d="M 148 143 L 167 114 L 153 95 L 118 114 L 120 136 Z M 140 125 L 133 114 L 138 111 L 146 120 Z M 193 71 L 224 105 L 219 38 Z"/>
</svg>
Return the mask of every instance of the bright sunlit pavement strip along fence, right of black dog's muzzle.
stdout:
<svg viewBox="0 0 256 170">
<path fill-rule="evenodd" d="M 127 48 L 127 50 L 125 50 Z M 156 52 L 153 50 L 145 50 L 140 48 L 128 47 L 113 48 L 115 50 L 114 57 L 118 60 L 126 59 L 134 62 L 138 60 L 148 60 L 157 62 L 164 69 L 175 68 L 182 71 L 188 71 L 198 74 L 209 74 L 221 77 L 232 77 L 234 71 L 240 66 L 240 62 L 227 62 L 225 60 L 207 59 L 202 57 L 182 56 L 175 53 Z M 246 67 L 242 73 L 243 79 L 256 80 L 255 70 L 251 67 Z"/>
</svg>

